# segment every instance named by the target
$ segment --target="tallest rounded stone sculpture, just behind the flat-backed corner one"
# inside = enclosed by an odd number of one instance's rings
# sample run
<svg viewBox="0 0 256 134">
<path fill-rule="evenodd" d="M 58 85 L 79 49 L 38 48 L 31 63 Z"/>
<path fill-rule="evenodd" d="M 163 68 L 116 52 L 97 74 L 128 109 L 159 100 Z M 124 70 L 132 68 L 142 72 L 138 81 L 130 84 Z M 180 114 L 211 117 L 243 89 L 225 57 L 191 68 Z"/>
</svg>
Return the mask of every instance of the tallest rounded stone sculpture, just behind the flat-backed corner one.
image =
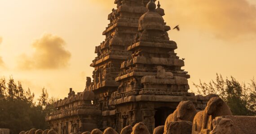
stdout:
<svg viewBox="0 0 256 134">
<path fill-rule="evenodd" d="M 192 134 L 198 134 L 202 130 L 210 131 L 213 129 L 212 120 L 218 116 L 232 115 L 230 108 L 219 97 L 212 97 L 203 111 L 199 111 L 193 121 Z"/>
</svg>

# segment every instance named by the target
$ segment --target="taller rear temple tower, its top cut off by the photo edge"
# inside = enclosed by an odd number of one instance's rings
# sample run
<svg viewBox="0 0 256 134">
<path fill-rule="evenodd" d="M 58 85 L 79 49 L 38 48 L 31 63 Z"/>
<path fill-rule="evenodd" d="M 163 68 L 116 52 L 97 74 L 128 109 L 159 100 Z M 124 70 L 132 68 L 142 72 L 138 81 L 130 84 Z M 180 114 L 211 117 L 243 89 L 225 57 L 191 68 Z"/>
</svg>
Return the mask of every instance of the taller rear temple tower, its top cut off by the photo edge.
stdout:
<svg viewBox="0 0 256 134">
<path fill-rule="evenodd" d="M 103 31 L 106 36 L 99 46 L 96 46 L 97 57 L 90 65 L 94 67 L 93 81 L 88 78 L 85 90 L 95 93 L 95 104 L 102 110 L 102 128 L 115 128 L 115 106 L 109 105 L 112 92 L 117 91 L 118 82 L 115 78 L 120 72 L 120 65 L 131 59 L 127 47 L 131 45 L 138 29 L 138 20 L 147 12 L 149 0 L 115 0 L 117 9 L 112 9 L 108 15 L 110 24 Z"/>
</svg>

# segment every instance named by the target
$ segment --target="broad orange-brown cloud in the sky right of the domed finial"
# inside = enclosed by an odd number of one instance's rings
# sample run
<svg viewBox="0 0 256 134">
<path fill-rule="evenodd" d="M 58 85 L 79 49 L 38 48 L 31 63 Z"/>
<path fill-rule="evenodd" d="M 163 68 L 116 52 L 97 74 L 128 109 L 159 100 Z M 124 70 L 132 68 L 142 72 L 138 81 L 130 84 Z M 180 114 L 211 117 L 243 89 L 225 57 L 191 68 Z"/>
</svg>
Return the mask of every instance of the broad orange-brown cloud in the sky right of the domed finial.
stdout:
<svg viewBox="0 0 256 134">
<path fill-rule="evenodd" d="M 256 7 L 247 0 L 171 0 L 166 7 L 167 22 L 175 20 L 217 38 L 256 34 Z"/>
</svg>

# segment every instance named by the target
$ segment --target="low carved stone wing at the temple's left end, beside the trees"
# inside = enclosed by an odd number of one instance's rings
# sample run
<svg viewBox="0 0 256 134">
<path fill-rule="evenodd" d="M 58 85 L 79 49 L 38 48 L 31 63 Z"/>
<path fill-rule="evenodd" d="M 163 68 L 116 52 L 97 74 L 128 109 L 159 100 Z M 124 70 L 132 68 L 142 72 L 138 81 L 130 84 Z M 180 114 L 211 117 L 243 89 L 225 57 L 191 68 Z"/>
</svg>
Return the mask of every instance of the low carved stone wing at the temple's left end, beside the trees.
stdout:
<svg viewBox="0 0 256 134">
<path fill-rule="evenodd" d="M 58 134 L 91 131 L 97 128 L 97 120 L 101 115 L 101 110 L 92 104 L 94 98 L 92 91 L 75 94 L 71 88 L 68 97 L 54 103 L 56 110 L 45 119 Z"/>
</svg>

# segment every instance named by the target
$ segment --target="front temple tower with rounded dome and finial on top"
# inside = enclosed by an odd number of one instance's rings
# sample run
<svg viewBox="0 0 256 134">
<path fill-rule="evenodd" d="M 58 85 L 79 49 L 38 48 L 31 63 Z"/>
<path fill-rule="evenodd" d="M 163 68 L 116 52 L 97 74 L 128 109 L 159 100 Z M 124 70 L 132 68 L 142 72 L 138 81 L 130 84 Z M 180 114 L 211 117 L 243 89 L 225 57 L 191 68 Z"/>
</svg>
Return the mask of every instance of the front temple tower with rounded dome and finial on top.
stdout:
<svg viewBox="0 0 256 134">
<path fill-rule="evenodd" d="M 190 75 L 181 69 L 184 61 L 174 52 L 177 44 L 169 40 L 164 10 L 160 4 L 156 9 L 153 0 L 147 8 L 139 19 L 134 43 L 127 48 L 132 59 L 121 64 L 115 79 L 119 88 L 111 103 L 116 106 L 118 131 L 143 121 L 152 133 L 156 126 L 164 125 L 180 101 L 196 101 L 194 93 L 188 93 Z"/>
</svg>

